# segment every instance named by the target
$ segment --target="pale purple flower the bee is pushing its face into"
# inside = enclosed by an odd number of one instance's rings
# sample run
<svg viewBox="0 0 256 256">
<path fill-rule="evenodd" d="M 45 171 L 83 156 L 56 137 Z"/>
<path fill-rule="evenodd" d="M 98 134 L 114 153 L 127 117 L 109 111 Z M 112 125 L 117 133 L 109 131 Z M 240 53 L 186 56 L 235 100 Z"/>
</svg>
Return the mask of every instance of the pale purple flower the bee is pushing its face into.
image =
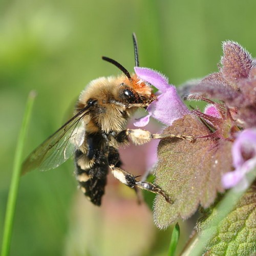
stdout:
<svg viewBox="0 0 256 256">
<path fill-rule="evenodd" d="M 166 125 L 172 125 L 175 120 L 190 113 L 176 88 L 168 83 L 164 75 L 148 68 L 135 67 L 134 70 L 139 78 L 159 90 L 157 99 L 147 107 L 148 115 L 135 122 L 135 126 L 145 126 L 150 121 L 150 116 Z"/>
</svg>

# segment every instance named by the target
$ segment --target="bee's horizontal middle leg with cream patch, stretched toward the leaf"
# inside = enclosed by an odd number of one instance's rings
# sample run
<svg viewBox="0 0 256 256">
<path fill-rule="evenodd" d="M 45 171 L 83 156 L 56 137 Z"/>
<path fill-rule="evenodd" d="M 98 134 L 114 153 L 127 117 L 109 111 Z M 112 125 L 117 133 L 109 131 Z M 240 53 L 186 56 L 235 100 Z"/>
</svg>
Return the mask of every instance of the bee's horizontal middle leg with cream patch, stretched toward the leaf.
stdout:
<svg viewBox="0 0 256 256">
<path fill-rule="evenodd" d="M 122 142 L 130 138 L 134 144 L 141 145 L 150 142 L 152 139 L 165 139 L 165 138 L 179 138 L 183 140 L 194 141 L 194 136 L 185 136 L 179 134 L 152 134 L 149 131 L 141 129 L 127 129 L 120 132 L 116 139 L 118 142 Z"/>
</svg>

